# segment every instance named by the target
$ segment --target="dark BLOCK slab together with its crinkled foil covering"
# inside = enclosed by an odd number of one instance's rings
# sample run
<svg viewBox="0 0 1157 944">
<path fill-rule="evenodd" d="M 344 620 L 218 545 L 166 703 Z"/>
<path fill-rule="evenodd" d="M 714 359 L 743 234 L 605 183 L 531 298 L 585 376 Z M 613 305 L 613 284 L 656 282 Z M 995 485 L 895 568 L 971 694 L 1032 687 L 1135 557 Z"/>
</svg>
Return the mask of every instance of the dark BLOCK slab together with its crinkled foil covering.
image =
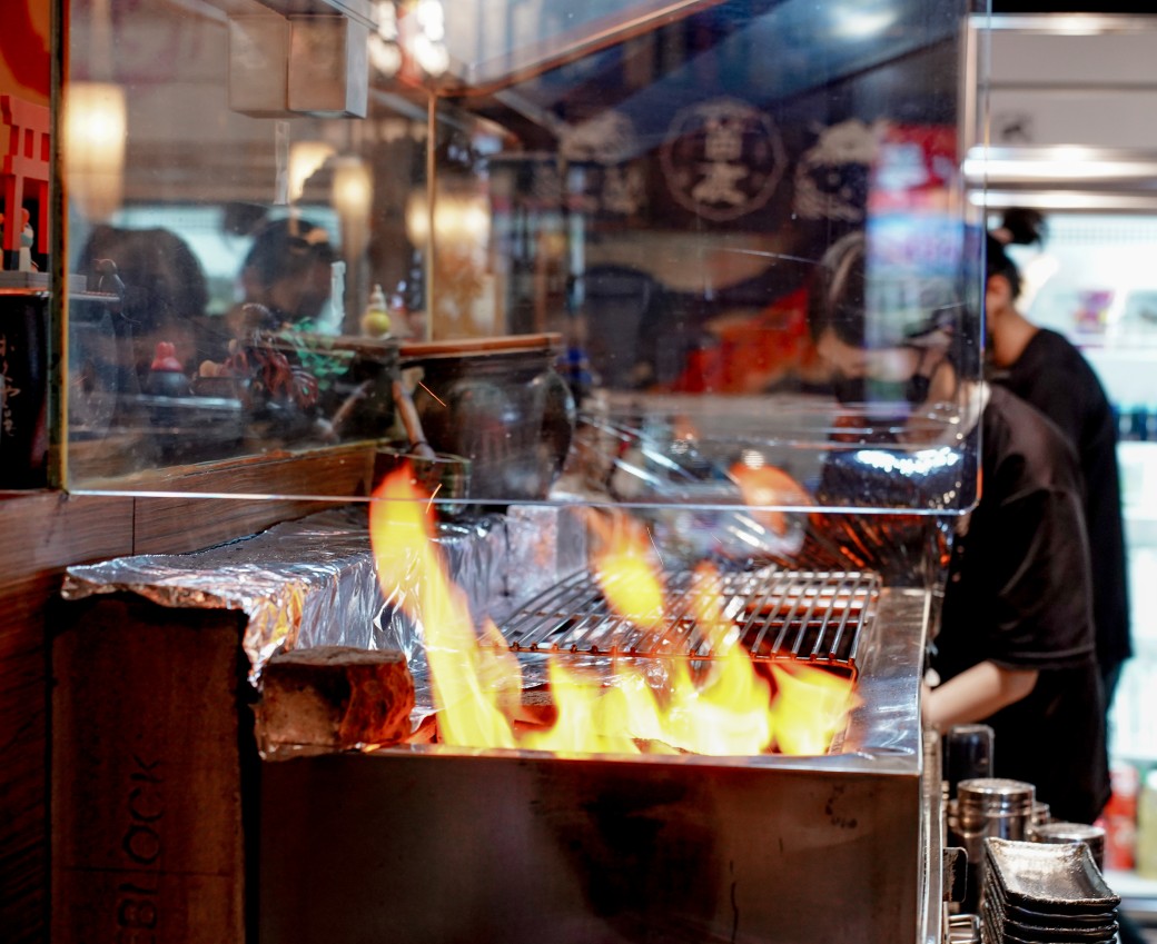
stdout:
<svg viewBox="0 0 1157 944">
<path fill-rule="evenodd" d="M 544 525 L 541 509 L 528 510 Z M 544 562 L 514 510 L 440 541 L 479 605 Z M 558 529 L 545 529 L 555 533 Z M 466 574 L 473 577 L 465 576 Z M 390 649 L 364 507 L 69 568 L 51 640 L 52 939 L 256 939 L 256 677 L 283 648 Z"/>
</svg>

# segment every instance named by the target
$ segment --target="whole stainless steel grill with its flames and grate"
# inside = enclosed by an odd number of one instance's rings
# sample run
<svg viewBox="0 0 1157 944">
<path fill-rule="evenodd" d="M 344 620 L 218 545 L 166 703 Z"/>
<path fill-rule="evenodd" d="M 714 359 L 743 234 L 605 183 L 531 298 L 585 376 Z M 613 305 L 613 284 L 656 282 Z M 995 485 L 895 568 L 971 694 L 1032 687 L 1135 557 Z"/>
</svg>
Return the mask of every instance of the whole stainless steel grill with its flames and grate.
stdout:
<svg viewBox="0 0 1157 944">
<path fill-rule="evenodd" d="M 927 589 L 664 568 L 604 517 L 587 567 L 479 628 L 429 510 L 370 519 L 436 733 L 263 765 L 263 942 L 938 944 Z"/>
</svg>

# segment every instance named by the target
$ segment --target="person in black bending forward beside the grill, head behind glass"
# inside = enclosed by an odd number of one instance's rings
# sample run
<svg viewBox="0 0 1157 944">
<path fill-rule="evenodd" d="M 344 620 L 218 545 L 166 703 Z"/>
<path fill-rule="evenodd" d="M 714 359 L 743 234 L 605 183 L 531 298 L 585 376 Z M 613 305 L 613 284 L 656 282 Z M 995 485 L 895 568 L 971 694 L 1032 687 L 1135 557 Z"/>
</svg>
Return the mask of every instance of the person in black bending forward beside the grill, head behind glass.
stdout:
<svg viewBox="0 0 1157 944">
<path fill-rule="evenodd" d="M 949 332 L 936 348 L 865 331 L 864 255 L 862 234 L 835 243 L 813 289 L 810 329 L 835 390 L 847 399 L 864 381 L 901 384 L 914 416 L 929 397 L 948 399 L 964 414 L 963 447 L 975 449 L 978 434 L 981 445 L 979 499 L 955 529 L 924 721 L 992 725 L 996 776 L 1034 784 L 1057 819 L 1092 823 L 1108 798 L 1108 761 L 1076 457 L 1033 407 L 971 379 L 978 354 L 964 339 Z"/>
</svg>

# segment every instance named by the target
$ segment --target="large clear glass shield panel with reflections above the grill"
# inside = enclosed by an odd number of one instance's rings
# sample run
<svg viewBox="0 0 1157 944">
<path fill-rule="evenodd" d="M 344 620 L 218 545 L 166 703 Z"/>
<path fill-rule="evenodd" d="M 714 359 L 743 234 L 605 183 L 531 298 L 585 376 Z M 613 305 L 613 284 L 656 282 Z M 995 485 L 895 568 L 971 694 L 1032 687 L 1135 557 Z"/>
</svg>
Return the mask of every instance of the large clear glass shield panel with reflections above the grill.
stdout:
<svg viewBox="0 0 1157 944">
<path fill-rule="evenodd" d="M 972 506 L 959 0 L 68 6 L 69 489 Z"/>
</svg>

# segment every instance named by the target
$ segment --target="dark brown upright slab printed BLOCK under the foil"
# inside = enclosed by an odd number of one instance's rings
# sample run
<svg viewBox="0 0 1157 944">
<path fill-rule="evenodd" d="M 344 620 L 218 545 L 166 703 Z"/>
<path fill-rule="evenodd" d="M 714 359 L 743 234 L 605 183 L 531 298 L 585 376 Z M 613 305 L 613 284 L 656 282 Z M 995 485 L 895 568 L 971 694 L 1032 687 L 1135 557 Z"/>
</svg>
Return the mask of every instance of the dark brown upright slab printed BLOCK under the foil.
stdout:
<svg viewBox="0 0 1157 944">
<path fill-rule="evenodd" d="M 132 595 L 52 646 L 52 941 L 243 944 L 245 618 Z"/>
</svg>

